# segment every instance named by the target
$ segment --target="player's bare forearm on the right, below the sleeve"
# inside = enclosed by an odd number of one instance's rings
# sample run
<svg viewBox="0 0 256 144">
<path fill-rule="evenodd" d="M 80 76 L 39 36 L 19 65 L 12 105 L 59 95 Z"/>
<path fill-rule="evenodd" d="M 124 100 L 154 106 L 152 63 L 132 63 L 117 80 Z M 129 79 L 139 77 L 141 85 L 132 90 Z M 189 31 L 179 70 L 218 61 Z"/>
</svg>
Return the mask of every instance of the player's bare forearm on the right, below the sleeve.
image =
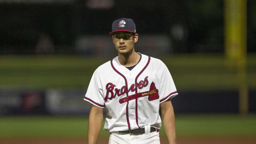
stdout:
<svg viewBox="0 0 256 144">
<path fill-rule="evenodd" d="M 176 142 L 176 128 L 175 115 L 171 100 L 166 100 L 160 104 L 162 120 L 164 122 L 164 129 L 169 140 L 169 144 L 177 144 Z"/>
</svg>

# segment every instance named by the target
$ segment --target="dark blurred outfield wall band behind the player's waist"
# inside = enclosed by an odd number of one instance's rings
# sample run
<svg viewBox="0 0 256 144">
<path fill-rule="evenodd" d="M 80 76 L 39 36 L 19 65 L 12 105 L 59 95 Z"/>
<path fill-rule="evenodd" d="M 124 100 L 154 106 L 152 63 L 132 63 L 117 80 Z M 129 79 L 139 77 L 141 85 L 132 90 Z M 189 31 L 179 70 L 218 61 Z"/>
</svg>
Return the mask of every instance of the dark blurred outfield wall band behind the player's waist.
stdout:
<svg viewBox="0 0 256 144">
<path fill-rule="evenodd" d="M 1 90 L 0 115 L 89 114 L 83 90 Z M 256 112 L 256 91 L 249 92 L 249 112 Z M 172 99 L 175 113 L 238 113 L 237 91 L 179 91 Z"/>
</svg>

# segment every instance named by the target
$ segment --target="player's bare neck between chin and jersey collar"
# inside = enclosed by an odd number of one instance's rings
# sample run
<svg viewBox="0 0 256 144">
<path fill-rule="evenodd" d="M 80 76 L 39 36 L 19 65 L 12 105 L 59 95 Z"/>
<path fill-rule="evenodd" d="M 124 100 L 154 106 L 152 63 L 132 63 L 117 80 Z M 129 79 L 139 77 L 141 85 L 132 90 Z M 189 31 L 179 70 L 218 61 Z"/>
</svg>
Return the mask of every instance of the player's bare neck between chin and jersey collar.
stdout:
<svg viewBox="0 0 256 144">
<path fill-rule="evenodd" d="M 122 55 L 118 53 L 118 60 L 120 64 L 122 64 L 125 67 L 132 67 L 138 63 L 140 59 L 140 55 L 137 54 L 135 51 L 132 51 L 129 55 Z"/>
</svg>

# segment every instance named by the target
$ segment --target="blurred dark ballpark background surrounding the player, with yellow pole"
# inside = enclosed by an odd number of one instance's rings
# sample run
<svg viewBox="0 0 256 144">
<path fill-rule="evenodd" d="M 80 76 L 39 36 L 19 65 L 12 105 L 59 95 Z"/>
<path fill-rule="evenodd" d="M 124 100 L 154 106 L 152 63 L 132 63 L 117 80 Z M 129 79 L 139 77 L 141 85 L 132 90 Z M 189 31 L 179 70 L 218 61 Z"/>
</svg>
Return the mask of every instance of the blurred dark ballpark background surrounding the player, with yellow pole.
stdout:
<svg viewBox="0 0 256 144">
<path fill-rule="evenodd" d="M 179 144 L 256 143 L 255 0 L 0 0 L 0 144 L 87 142 L 83 97 L 123 17 L 173 76 Z"/>
</svg>

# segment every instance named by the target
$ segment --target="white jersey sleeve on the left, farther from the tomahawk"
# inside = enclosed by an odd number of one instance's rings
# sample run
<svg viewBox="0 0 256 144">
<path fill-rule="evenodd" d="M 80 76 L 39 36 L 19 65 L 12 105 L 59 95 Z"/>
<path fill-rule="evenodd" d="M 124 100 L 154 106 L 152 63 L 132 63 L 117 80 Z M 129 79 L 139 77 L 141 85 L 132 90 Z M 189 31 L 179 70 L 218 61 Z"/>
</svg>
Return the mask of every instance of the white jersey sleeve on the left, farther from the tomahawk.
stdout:
<svg viewBox="0 0 256 144">
<path fill-rule="evenodd" d="M 103 89 L 100 81 L 100 76 L 98 74 L 98 69 L 96 69 L 92 75 L 92 79 L 89 83 L 83 100 L 90 102 L 91 104 L 99 108 L 105 108 Z"/>
</svg>

